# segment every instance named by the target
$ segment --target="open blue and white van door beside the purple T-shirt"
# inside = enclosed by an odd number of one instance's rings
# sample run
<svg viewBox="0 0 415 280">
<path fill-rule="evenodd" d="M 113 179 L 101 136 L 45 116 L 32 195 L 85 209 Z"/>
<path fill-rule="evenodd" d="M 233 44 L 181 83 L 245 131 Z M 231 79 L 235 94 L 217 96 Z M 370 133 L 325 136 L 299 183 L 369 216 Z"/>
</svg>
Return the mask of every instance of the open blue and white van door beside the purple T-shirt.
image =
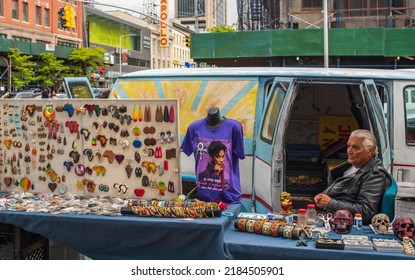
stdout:
<svg viewBox="0 0 415 280">
<path fill-rule="evenodd" d="M 255 129 L 252 193 L 256 212 L 280 209 L 280 194 L 284 187 L 284 134 L 296 97 L 295 81 L 293 78 L 267 81 L 264 86 L 264 105 L 257 108 L 263 113 Z"/>
</svg>

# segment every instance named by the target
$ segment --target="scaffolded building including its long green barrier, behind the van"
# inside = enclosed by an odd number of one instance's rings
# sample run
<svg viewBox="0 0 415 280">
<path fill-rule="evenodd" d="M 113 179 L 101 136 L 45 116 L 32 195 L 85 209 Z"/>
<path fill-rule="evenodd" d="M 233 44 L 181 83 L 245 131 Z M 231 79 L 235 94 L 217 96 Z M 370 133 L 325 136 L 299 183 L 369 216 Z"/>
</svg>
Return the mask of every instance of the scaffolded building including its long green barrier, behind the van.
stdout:
<svg viewBox="0 0 415 280">
<path fill-rule="evenodd" d="M 192 36 L 191 55 L 216 66 L 414 68 L 414 0 L 238 0 L 238 31 Z"/>
</svg>

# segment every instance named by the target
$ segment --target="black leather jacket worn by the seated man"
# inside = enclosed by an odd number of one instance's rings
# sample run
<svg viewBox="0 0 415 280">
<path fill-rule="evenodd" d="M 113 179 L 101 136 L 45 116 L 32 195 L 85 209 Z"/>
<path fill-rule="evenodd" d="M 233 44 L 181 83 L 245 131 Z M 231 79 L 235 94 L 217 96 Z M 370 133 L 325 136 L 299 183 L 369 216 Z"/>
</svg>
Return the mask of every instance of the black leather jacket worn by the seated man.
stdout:
<svg viewBox="0 0 415 280">
<path fill-rule="evenodd" d="M 351 166 L 347 165 L 342 170 Z M 353 215 L 360 213 L 363 224 L 370 224 L 372 217 L 380 212 L 383 195 L 390 184 L 382 162 L 377 157 L 371 158 L 356 173 L 337 178 L 323 192 L 332 198 L 326 209 L 333 214 L 340 209 L 349 210 Z"/>
</svg>

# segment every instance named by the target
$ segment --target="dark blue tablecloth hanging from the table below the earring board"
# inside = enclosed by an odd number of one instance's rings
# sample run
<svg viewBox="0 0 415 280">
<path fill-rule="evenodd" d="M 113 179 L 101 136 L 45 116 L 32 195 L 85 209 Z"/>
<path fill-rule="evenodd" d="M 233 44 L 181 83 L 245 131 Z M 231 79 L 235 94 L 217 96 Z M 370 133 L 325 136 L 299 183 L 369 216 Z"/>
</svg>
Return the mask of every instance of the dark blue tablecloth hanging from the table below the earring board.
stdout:
<svg viewBox="0 0 415 280">
<path fill-rule="evenodd" d="M 240 205 L 228 205 L 237 215 Z M 234 217 L 145 218 L 0 211 L 0 222 L 73 248 L 92 259 L 227 259 L 224 230 Z"/>
</svg>

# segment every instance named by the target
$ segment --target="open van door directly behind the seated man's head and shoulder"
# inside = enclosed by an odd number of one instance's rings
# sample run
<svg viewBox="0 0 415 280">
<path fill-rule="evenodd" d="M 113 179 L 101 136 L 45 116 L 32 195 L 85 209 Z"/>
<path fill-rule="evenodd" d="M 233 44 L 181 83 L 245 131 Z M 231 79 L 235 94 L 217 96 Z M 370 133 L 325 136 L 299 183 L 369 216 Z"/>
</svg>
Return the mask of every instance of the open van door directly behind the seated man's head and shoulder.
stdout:
<svg viewBox="0 0 415 280">
<path fill-rule="evenodd" d="M 366 99 L 367 111 L 372 123 L 372 132 L 378 142 L 379 158 L 383 166 L 388 170 L 391 165 L 391 148 L 388 138 L 387 120 L 383 112 L 383 103 L 379 98 L 376 85 L 373 80 L 363 80 L 361 89 Z"/>
</svg>

